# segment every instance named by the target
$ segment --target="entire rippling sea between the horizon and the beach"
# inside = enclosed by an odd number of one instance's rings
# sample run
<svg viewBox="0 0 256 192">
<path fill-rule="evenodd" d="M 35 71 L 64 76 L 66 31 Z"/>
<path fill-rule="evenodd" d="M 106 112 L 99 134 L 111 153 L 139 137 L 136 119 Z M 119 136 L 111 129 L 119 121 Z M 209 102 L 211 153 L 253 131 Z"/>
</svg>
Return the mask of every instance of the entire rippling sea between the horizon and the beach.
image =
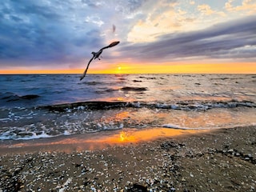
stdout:
<svg viewBox="0 0 256 192">
<path fill-rule="evenodd" d="M 256 125 L 255 74 L 0 75 L 0 139 Z"/>
</svg>

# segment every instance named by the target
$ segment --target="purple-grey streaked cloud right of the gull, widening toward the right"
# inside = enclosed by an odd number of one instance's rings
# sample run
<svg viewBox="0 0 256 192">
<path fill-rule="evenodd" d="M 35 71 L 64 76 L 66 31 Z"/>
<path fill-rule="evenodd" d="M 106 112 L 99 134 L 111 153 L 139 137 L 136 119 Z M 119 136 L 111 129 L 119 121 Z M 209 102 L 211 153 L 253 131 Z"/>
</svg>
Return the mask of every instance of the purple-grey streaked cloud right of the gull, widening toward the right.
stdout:
<svg viewBox="0 0 256 192">
<path fill-rule="evenodd" d="M 251 16 L 211 26 L 205 30 L 166 34 L 158 41 L 124 46 L 128 57 L 151 61 L 174 61 L 182 58 L 256 57 L 256 17 Z M 253 47 L 254 46 L 254 47 Z M 246 47 L 253 47 L 246 49 Z"/>
</svg>

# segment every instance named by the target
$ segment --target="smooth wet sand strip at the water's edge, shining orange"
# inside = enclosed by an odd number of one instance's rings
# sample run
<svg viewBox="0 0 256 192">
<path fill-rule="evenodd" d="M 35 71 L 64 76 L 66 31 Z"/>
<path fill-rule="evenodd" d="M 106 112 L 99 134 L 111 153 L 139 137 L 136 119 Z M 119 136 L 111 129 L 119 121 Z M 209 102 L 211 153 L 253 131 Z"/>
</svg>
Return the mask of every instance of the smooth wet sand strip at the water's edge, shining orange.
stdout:
<svg viewBox="0 0 256 192">
<path fill-rule="evenodd" d="M 87 134 L 60 135 L 52 138 L 3 140 L 0 142 L 0 154 L 24 154 L 38 151 L 72 153 L 82 150 L 103 150 L 111 146 L 126 146 L 151 142 L 158 138 L 178 137 L 206 131 L 210 130 L 181 130 L 162 127 L 124 128 L 122 130 L 105 130 Z M 148 134 L 149 132 L 150 134 Z"/>
</svg>

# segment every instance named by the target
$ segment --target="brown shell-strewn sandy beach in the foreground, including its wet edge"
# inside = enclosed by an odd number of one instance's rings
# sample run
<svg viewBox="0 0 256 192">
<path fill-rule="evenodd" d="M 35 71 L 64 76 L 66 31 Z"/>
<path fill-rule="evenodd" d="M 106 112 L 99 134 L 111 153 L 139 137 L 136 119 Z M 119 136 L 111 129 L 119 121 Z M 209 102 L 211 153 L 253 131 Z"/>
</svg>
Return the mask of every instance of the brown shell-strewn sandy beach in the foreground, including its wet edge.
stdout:
<svg viewBox="0 0 256 192">
<path fill-rule="evenodd" d="M 180 131 L 2 142 L 0 191 L 256 190 L 256 126 Z"/>
</svg>

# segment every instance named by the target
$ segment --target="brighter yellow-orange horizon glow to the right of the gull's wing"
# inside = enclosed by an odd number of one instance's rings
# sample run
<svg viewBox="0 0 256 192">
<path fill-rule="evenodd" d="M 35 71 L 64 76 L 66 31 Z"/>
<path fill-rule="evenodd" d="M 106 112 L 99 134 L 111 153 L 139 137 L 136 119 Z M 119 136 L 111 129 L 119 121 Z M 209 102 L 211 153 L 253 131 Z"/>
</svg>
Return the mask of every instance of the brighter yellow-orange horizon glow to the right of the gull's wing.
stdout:
<svg viewBox="0 0 256 192">
<path fill-rule="evenodd" d="M 256 74 L 256 63 L 120 63 L 91 74 Z"/>
</svg>

